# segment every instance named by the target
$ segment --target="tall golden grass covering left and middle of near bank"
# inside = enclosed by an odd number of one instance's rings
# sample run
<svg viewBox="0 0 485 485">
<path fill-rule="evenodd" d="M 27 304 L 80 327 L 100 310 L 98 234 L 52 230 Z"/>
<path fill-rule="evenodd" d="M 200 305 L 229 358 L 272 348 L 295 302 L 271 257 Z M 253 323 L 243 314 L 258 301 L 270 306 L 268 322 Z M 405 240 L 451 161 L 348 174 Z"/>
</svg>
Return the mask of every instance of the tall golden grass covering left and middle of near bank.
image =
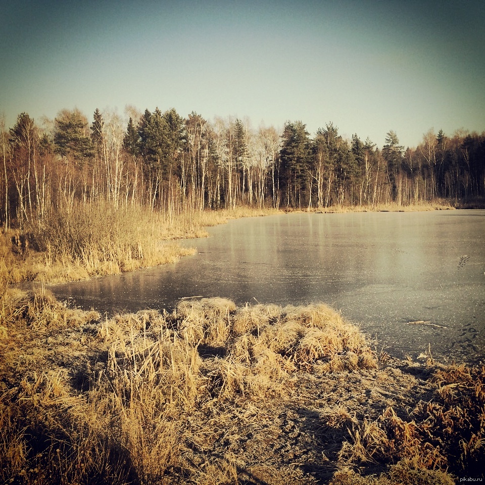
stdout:
<svg viewBox="0 0 485 485">
<path fill-rule="evenodd" d="M 226 406 L 281 398 L 302 369 L 366 352 L 358 329 L 324 306 L 236 308 L 213 299 L 101 319 L 47 292 L 9 290 L 4 301 L 12 332 L 3 346 L 11 375 L 0 398 L 0 476 L 16 483 L 236 483 L 233 455 L 203 451 L 231 425 Z M 306 343 L 315 330 L 318 350 Z M 46 338 L 47 349 L 20 365 L 26 332 L 32 345 Z M 65 352 L 78 357 L 45 370 Z M 201 413 L 202 434 L 193 436 Z"/>
</svg>

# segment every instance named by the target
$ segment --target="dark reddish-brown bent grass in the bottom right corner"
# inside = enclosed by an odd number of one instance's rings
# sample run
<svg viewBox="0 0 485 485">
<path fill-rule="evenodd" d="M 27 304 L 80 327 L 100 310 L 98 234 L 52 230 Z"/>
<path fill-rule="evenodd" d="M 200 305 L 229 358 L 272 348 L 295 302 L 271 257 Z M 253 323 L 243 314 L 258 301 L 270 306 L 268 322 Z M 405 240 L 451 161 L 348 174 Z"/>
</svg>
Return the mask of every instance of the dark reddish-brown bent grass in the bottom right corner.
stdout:
<svg viewBox="0 0 485 485">
<path fill-rule="evenodd" d="M 437 365 L 428 402 L 398 415 L 393 407 L 377 420 L 353 423 L 340 460 L 345 465 L 400 463 L 416 470 L 482 475 L 485 458 L 485 368 Z"/>
</svg>

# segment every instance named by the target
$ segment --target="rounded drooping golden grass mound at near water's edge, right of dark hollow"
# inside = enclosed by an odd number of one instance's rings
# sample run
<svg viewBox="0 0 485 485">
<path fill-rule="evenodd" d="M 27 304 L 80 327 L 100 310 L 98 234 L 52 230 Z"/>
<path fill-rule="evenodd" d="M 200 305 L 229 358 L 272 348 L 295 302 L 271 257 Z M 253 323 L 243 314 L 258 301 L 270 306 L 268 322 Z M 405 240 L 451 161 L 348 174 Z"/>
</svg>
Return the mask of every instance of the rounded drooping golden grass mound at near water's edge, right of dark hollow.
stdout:
<svg viewBox="0 0 485 485">
<path fill-rule="evenodd" d="M 221 397 L 248 392 L 260 397 L 268 392 L 283 395 L 288 391 L 283 383 L 298 369 L 376 367 L 375 353 L 358 327 L 326 305 L 246 305 L 227 315 L 231 318 L 233 336 L 219 367 Z"/>
</svg>

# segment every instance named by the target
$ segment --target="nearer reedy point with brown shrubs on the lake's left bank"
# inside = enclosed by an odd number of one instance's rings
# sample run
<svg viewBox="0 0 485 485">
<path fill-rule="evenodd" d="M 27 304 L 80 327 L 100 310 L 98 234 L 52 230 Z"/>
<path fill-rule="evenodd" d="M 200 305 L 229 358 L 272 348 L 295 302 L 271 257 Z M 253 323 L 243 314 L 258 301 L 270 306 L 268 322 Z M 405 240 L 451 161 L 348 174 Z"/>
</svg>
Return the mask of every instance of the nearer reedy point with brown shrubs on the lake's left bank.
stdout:
<svg viewBox="0 0 485 485">
<path fill-rule="evenodd" d="M 129 216 L 126 216 L 125 223 L 129 227 Z M 156 227 L 156 221 L 151 225 Z M 49 230 L 32 230 L 29 237 L 33 243 L 21 253 L 13 251 L 10 244 L 12 232 L 0 235 L 3 242 L 0 244 L 0 252 L 3 252 L 0 254 L 0 283 L 5 287 L 25 281 L 79 281 L 172 263 L 195 252 L 195 249 L 182 248 L 175 241 L 164 241 L 165 235 L 158 233 L 158 228 L 155 231 L 133 225 L 133 231 L 123 233 L 123 241 L 120 234 L 109 230 L 117 227 L 109 219 L 92 227 L 89 233 L 76 241 L 73 240 L 75 235 L 66 234 L 68 224 L 57 227 L 53 224 Z M 96 233 L 96 229 L 99 232 Z"/>
</svg>

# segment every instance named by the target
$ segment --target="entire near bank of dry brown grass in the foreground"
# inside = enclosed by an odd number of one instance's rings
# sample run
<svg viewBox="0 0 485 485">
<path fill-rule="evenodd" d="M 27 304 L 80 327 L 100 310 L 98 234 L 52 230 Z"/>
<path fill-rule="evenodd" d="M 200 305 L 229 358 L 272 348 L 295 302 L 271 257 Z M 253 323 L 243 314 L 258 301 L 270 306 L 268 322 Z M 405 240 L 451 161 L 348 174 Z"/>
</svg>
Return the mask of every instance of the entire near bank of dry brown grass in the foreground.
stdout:
<svg viewBox="0 0 485 485">
<path fill-rule="evenodd" d="M 484 369 L 377 355 L 324 305 L 202 299 L 101 318 L 46 291 L 6 289 L 1 302 L 4 483 L 448 484 L 449 472 L 482 473 Z"/>
</svg>

